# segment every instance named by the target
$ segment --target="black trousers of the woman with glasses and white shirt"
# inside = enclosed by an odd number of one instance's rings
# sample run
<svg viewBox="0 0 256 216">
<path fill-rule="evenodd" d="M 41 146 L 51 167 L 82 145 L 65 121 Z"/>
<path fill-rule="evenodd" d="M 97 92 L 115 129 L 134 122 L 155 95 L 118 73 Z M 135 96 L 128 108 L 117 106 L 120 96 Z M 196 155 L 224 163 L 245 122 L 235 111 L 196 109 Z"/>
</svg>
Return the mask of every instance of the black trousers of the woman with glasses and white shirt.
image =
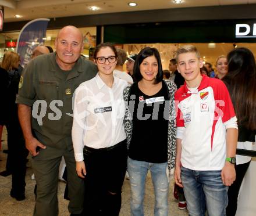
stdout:
<svg viewBox="0 0 256 216">
<path fill-rule="evenodd" d="M 84 215 L 117 216 L 127 167 L 126 140 L 113 147 L 84 147 L 86 164 Z"/>
</svg>

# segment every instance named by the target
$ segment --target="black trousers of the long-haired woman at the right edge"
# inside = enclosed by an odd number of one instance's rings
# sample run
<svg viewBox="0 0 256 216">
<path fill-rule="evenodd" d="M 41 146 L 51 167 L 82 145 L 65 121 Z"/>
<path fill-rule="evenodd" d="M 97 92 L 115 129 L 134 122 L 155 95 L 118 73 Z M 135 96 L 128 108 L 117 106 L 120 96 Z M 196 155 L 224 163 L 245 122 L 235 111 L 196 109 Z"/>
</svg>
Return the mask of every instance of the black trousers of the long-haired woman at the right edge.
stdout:
<svg viewBox="0 0 256 216">
<path fill-rule="evenodd" d="M 250 165 L 251 161 L 245 164 L 236 165 L 236 180 L 234 183 L 229 186 L 229 190 L 227 191 L 227 196 L 229 197 L 229 203 L 226 207 L 226 215 L 234 216 L 236 215 L 237 210 L 237 198 L 240 190 L 241 183 L 243 182 L 244 175 L 246 175 L 246 171 Z"/>
</svg>

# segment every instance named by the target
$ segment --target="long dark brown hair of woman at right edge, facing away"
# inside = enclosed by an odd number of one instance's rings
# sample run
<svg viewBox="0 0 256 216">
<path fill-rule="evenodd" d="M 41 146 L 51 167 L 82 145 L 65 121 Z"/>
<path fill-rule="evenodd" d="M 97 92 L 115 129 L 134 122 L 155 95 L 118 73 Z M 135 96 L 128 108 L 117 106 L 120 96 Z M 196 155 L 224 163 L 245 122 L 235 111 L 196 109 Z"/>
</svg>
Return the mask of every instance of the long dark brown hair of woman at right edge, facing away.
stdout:
<svg viewBox="0 0 256 216">
<path fill-rule="evenodd" d="M 223 78 L 229 89 L 237 123 L 256 129 L 256 64 L 253 53 L 237 48 L 227 55 L 228 72 Z"/>
</svg>

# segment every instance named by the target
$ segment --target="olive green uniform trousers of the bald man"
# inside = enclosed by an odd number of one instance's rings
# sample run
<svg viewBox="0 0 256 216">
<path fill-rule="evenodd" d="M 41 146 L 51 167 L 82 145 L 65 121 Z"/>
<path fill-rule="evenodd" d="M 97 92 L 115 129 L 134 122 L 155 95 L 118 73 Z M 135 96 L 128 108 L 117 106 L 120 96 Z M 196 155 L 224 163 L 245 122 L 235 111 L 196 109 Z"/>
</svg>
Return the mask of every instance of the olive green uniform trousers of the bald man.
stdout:
<svg viewBox="0 0 256 216">
<path fill-rule="evenodd" d="M 65 146 L 66 144 L 63 141 L 63 145 Z M 65 159 L 67 168 L 70 198 L 69 212 L 80 214 L 83 211 L 84 182 L 77 176 L 73 149 L 57 149 L 47 146 L 46 149 L 40 149 L 39 154 L 33 157 L 32 160 L 37 183 L 34 216 L 58 215 L 59 165 L 61 164 L 62 156 Z"/>
</svg>

